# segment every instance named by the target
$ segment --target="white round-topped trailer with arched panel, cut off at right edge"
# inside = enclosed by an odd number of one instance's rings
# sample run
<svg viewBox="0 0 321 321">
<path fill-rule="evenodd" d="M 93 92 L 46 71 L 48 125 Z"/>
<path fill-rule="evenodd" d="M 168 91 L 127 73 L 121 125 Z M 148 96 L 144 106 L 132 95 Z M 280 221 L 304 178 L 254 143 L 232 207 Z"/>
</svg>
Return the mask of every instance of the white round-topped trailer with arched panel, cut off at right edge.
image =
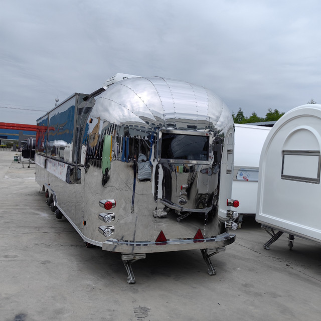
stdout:
<svg viewBox="0 0 321 321">
<path fill-rule="evenodd" d="M 256 221 L 271 236 L 283 233 L 321 243 L 321 105 L 307 104 L 283 115 L 267 136 L 260 157 Z"/>
</svg>

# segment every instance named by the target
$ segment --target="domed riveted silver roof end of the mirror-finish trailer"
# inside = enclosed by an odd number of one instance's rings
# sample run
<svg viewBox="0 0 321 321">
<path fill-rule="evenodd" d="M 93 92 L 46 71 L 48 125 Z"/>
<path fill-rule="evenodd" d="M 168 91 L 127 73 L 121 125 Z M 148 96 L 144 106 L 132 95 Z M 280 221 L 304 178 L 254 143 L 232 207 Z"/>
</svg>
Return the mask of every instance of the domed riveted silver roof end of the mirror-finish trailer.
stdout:
<svg viewBox="0 0 321 321">
<path fill-rule="evenodd" d="M 162 77 L 134 77 L 115 82 L 95 97 L 94 112 L 116 124 L 225 131 L 233 118 L 210 90 Z"/>
</svg>

